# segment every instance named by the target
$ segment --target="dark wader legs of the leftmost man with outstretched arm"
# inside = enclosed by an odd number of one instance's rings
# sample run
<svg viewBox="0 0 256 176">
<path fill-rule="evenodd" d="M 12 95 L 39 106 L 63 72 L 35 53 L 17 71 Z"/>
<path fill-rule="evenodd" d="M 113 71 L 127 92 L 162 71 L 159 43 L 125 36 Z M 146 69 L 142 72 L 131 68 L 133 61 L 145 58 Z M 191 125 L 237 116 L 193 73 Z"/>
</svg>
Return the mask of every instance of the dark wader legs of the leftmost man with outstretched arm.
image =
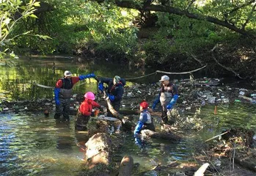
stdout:
<svg viewBox="0 0 256 176">
<path fill-rule="evenodd" d="M 59 98 L 60 105 L 56 105 L 54 119 L 59 119 L 63 115 L 63 119 L 70 120 L 70 98 Z"/>
</svg>

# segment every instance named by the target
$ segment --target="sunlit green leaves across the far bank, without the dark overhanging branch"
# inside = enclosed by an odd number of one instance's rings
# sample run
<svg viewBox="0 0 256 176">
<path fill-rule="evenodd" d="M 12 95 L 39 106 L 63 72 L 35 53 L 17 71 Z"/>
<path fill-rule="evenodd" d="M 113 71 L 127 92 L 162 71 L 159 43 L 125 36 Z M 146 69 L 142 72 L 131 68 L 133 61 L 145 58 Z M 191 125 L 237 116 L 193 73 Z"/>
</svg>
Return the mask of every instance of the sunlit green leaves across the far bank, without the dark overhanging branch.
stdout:
<svg viewBox="0 0 256 176">
<path fill-rule="evenodd" d="M 200 20 L 188 18 L 185 15 L 172 15 L 167 12 L 155 13 L 158 17 L 157 32 L 140 43 L 136 34 L 138 26 L 136 19 L 141 18 L 139 11 L 117 7 L 115 1 L 69 1 L 48 0 L 54 10 L 40 12 L 32 18 L 23 18 L 14 28 L 14 36 L 21 32 L 12 44 L 13 50 L 39 51 L 43 54 L 83 51 L 92 45 L 100 54 L 109 54 L 114 58 L 137 59 L 147 57 L 159 63 L 165 62 L 172 54 L 197 53 L 202 48 L 211 48 L 216 43 L 237 37 L 224 26 L 206 21 L 208 16 L 227 21 L 239 29 L 255 31 L 255 15 L 253 4 L 245 1 L 169 1 L 167 6 L 178 8 L 200 16 Z M 144 1 L 135 0 L 134 7 L 143 7 Z M 161 1 L 153 1 L 153 5 Z M 37 6 L 38 4 L 34 5 Z M 40 37 L 37 37 L 38 35 Z M 52 40 L 48 39 L 48 36 Z M 138 42 L 139 41 L 139 42 Z M 140 58 L 139 58 L 140 59 Z"/>
</svg>

